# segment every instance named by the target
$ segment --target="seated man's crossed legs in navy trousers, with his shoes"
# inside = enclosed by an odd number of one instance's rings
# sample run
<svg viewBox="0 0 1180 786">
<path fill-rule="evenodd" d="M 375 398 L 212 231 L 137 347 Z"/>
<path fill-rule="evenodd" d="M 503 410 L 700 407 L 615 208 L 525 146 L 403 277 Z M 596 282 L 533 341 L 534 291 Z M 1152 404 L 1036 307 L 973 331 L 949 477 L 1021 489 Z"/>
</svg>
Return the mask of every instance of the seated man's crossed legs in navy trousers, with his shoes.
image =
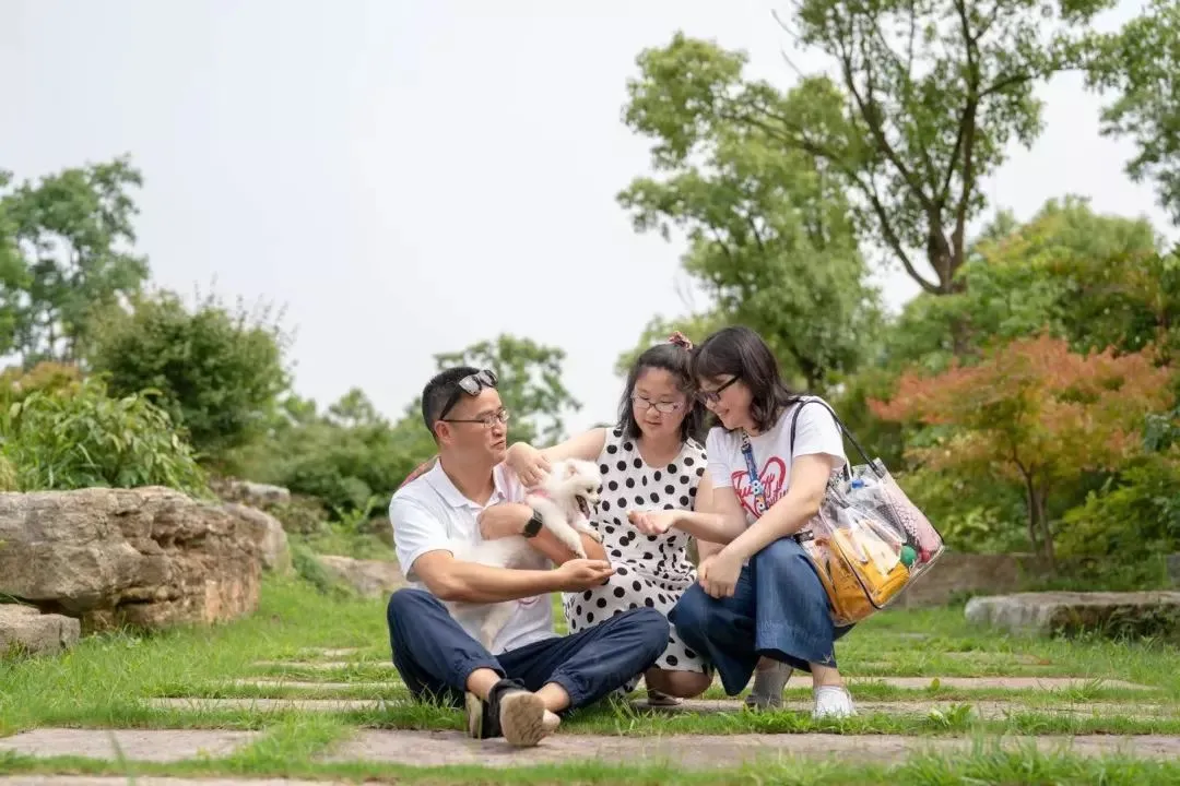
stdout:
<svg viewBox="0 0 1180 786">
<path fill-rule="evenodd" d="M 399 589 L 387 609 L 393 663 L 414 698 L 467 707 L 467 733 L 536 745 L 558 715 L 598 701 L 650 667 L 668 646 L 668 620 L 624 612 L 569 636 L 493 656 L 434 595 Z"/>
</svg>

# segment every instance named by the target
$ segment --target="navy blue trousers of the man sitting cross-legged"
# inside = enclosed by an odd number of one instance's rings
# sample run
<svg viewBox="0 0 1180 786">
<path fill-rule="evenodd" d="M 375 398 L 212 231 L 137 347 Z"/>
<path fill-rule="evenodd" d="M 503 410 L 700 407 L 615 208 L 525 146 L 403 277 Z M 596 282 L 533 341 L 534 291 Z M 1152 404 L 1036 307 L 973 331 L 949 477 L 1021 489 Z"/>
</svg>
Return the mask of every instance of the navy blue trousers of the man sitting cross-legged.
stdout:
<svg viewBox="0 0 1180 786">
<path fill-rule="evenodd" d="M 653 608 L 623 612 L 568 636 L 553 636 L 493 656 L 472 639 L 434 595 L 399 589 L 386 612 L 393 665 L 419 700 L 463 706 L 467 678 L 490 668 L 529 691 L 562 686 L 568 709 L 598 701 L 643 673 L 668 646 L 670 628 Z"/>
</svg>

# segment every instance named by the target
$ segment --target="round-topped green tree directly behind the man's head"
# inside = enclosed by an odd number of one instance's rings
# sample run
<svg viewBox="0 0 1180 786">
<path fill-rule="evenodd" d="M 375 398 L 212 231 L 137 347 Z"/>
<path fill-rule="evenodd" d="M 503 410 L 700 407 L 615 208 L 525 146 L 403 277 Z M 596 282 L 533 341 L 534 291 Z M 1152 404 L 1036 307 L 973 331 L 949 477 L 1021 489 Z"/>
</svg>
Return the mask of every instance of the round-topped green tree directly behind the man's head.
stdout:
<svg viewBox="0 0 1180 786">
<path fill-rule="evenodd" d="M 581 402 L 562 383 L 564 359 L 564 350 L 510 335 L 434 356 L 439 371 L 453 365 L 496 371 L 500 399 L 512 412 L 509 441 L 530 444 L 551 444 L 560 440 L 564 412 L 582 409 Z"/>
</svg>

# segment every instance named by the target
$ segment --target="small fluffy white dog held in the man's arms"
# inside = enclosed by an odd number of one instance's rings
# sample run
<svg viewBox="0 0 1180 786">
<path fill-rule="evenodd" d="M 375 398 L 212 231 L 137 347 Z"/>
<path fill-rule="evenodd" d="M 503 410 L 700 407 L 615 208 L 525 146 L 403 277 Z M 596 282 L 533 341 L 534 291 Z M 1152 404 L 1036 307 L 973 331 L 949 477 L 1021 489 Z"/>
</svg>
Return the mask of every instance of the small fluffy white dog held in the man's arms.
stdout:
<svg viewBox="0 0 1180 786">
<path fill-rule="evenodd" d="M 529 490 L 525 502 L 540 514 L 544 529 L 552 533 L 563 546 L 585 559 L 586 553 L 582 548 L 578 533 L 585 533 L 595 541 L 602 542 L 602 535 L 590 526 L 590 515 L 598 506 L 601 494 L 602 475 L 598 473 L 598 467 L 594 462 L 566 458 L 553 463 L 542 484 Z M 463 543 L 453 553 L 457 560 L 465 562 L 479 562 L 497 568 L 518 568 L 531 550 L 527 539 L 523 535 L 512 535 L 478 543 Z M 451 616 L 460 623 L 465 621 L 479 623 L 480 642 L 489 649 L 516 607 L 516 601 L 447 603 Z"/>
</svg>

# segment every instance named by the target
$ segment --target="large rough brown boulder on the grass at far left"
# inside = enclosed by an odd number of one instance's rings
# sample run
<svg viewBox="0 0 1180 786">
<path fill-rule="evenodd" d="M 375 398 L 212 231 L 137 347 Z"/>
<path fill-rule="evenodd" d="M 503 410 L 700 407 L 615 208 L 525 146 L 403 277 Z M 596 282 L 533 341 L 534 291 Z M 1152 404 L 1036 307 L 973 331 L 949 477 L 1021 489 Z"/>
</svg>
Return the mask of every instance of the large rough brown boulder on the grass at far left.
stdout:
<svg viewBox="0 0 1180 786">
<path fill-rule="evenodd" d="M 0 494 L 0 594 L 84 632 L 231 620 L 257 608 L 266 537 L 160 487 Z"/>
</svg>

